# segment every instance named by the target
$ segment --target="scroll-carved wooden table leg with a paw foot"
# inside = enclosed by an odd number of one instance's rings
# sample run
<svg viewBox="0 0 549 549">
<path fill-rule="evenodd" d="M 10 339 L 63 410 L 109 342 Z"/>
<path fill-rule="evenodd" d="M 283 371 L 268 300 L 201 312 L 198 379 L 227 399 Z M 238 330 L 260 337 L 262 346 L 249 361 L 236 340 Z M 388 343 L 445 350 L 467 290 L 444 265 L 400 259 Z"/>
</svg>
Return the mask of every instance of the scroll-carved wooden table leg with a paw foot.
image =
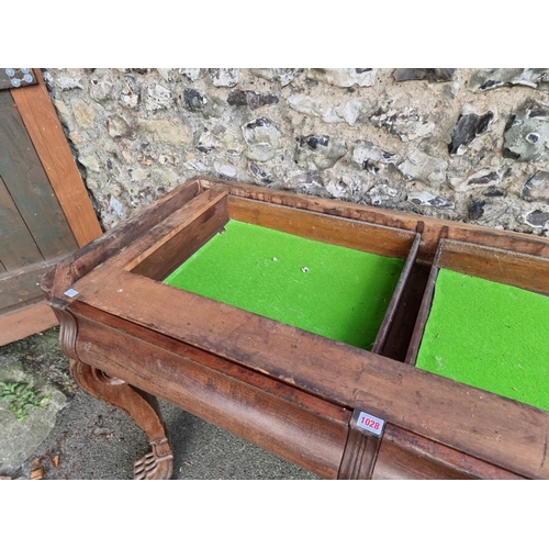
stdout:
<svg viewBox="0 0 549 549">
<path fill-rule="evenodd" d="M 134 479 L 169 479 L 172 474 L 173 455 L 157 400 L 78 360 L 70 360 L 70 372 L 83 391 L 124 410 L 148 436 L 152 451 L 135 462 Z"/>
</svg>

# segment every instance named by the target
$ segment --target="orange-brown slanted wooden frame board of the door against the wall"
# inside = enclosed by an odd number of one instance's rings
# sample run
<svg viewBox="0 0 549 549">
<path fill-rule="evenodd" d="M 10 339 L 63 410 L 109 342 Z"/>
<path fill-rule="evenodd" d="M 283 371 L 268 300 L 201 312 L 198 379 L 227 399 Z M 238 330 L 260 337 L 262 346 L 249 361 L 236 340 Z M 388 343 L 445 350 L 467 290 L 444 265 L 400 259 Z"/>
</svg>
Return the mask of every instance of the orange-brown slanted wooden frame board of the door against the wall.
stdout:
<svg viewBox="0 0 549 549">
<path fill-rule="evenodd" d="M 13 89 L 11 96 L 76 242 L 83 246 L 101 235 L 101 226 L 40 70 L 34 76 L 37 86 Z"/>
</svg>

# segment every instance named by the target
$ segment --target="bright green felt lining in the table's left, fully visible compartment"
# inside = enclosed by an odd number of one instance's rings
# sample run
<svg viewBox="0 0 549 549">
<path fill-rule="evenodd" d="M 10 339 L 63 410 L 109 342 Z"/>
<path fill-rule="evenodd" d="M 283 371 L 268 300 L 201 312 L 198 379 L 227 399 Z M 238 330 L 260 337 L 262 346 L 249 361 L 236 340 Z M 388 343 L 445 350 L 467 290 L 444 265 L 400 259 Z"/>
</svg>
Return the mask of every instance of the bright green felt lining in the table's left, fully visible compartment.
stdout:
<svg viewBox="0 0 549 549">
<path fill-rule="evenodd" d="M 403 266 L 231 220 L 165 282 L 369 349 Z"/>
</svg>

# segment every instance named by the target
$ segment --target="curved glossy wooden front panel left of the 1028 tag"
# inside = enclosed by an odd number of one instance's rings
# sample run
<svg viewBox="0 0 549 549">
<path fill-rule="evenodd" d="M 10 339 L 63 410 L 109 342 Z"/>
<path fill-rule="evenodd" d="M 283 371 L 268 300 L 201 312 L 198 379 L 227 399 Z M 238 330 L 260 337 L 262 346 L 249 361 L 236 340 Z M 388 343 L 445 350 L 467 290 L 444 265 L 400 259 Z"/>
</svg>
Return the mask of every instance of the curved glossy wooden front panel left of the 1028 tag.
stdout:
<svg viewBox="0 0 549 549">
<path fill-rule="evenodd" d="M 179 354 L 78 317 L 87 363 L 126 380 L 325 478 L 335 478 L 347 426 Z M 127 343 L 133 351 L 128 354 Z M 144 365 L 146 367 L 144 368 Z M 254 413 L 249 414 L 249 404 Z"/>
</svg>

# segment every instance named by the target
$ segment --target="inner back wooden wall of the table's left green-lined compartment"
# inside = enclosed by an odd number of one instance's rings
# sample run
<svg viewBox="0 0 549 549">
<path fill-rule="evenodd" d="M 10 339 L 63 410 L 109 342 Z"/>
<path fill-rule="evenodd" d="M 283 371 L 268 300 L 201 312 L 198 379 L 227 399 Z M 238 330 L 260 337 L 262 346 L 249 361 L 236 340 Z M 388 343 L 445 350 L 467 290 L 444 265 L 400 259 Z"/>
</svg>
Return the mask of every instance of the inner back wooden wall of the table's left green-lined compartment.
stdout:
<svg viewBox="0 0 549 549">
<path fill-rule="evenodd" d="M 406 231 L 292 210 L 232 197 L 231 219 L 337 246 L 405 258 L 414 235 Z"/>
</svg>

